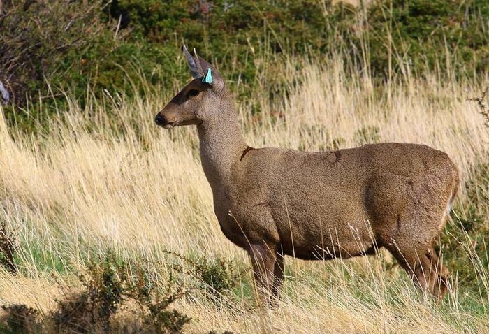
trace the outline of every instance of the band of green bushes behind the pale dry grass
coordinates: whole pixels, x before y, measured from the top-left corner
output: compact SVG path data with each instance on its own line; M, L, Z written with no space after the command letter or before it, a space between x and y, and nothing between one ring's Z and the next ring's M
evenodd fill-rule
M283 91L284 78L270 68L290 55L321 59L338 50L348 55L344 64L368 66L379 80L409 71L474 75L489 68L488 17L483 0L381 0L367 8L318 0L6 1L0 81L13 106L33 101L43 107L31 112L48 110L6 109L10 124L33 130L52 110L67 109L62 92L83 106L87 89L131 97L145 93L145 82L188 80L183 43L217 64L240 97L257 86L270 96Z

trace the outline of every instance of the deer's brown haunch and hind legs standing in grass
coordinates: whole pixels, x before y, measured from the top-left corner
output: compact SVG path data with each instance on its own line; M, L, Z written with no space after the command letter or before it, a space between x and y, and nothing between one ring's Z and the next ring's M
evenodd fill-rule
M432 245L445 224L451 196L439 182L439 177L431 182L391 177L383 188L372 187L367 197L379 245L393 254L416 285L437 299L444 297L447 279Z

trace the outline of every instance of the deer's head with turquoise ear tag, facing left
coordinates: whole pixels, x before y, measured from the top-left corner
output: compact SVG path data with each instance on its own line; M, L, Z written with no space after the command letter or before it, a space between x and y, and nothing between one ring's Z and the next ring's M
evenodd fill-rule
M163 110L156 114L154 122L165 129L173 126L199 125L218 113L219 101L224 94L224 80L207 61L193 56L184 46L191 80Z

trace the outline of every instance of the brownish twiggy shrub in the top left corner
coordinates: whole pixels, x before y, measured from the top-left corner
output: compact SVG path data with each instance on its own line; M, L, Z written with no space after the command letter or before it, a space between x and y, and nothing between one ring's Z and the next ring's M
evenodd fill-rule
M0 11L0 80L17 106L38 90L46 94L44 80L66 74L73 66L68 55L94 43L104 28L98 11L87 1L6 1Z

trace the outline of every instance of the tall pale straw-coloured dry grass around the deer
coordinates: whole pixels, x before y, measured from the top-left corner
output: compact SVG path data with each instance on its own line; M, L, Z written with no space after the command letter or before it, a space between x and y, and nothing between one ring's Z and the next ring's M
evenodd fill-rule
M249 144L326 150L377 140L424 143L448 152L462 182L487 160L489 131L476 104L467 101L479 95L481 86L411 78L381 91L368 78L341 68L333 60L323 66L304 63L300 71L292 64L277 70L275 75L302 83L291 84L289 96L270 101L257 91L239 103ZM153 124L156 111L173 93L132 102L120 97L91 101L85 110L73 102L66 119L54 119L48 133L39 136L15 133L0 119L0 221L17 231L15 261L21 273L14 277L0 271L0 303L48 310L59 296L53 273L70 282L109 248L128 259L145 257L152 279L161 286L174 270L166 265L166 250L248 266L245 252L226 240L214 217L195 129L167 132ZM251 104L261 114L251 115ZM464 191L458 201L466 201ZM460 242L470 253L470 240ZM435 305L417 293L400 268L386 270L392 266L386 254L327 263L288 260L279 307L254 307L248 277L223 305L199 291L178 301L177 309L193 318L186 330L489 331L484 288L481 296L462 296L464 282L458 282L447 300ZM481 269L480 284L488 286L487 268L477 261L472 263ZM478 312L463 305L467 298Z

